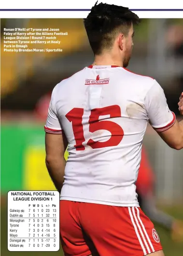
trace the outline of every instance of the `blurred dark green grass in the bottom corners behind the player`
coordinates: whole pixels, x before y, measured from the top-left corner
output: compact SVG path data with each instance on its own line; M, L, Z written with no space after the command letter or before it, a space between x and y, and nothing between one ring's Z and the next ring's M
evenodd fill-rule
M175 218L183 220L183 208L180 207L172 207L165 208L165 210L172 214ZM1 205L1 248L0 252L2 256L63 256L63 252L60 246L60 250L58 252L9 252L7 249L7 206L6 204ZM183 244L175 244L170 239L169 231L164 230L162 227L155 226L161 244L163 246L163 250L165 256L183 256Z

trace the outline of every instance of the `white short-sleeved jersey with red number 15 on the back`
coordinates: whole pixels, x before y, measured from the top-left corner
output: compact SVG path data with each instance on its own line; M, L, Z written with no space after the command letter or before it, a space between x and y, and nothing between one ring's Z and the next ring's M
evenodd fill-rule
M45 131L65 133L61 200L139 206L135 182L148 121L175 123L156 80L119 66L88 66L53 90Z

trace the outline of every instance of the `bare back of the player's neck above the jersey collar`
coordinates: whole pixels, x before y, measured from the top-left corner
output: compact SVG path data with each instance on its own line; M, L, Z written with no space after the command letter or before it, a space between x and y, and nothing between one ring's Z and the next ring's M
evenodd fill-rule
M115 66L122 66L123 67L123 61L121 59L116 59L111 57L110 55L96 55L95 60L92 64L98 65L98 66L108 66L108 65L115 65Z

